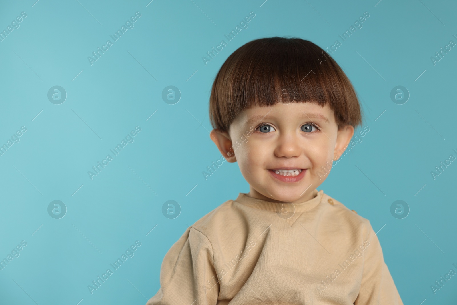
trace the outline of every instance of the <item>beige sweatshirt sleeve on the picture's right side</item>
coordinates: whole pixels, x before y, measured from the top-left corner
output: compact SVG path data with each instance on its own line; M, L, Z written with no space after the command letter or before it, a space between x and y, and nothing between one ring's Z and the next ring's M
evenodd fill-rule
M366 248L362 252L364 262L360 290L354 305L403 305L384 262L381 244L369 221L368 230L367 240L364 240Z

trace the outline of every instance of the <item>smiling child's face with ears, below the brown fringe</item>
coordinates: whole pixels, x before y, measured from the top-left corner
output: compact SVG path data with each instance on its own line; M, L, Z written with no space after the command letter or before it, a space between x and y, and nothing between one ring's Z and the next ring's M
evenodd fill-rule
M338 130L327 105L292 102L245 110L228 133L214 129L211 139L227 161L238 161L251 197L303 202L327 178L353 134L350 125ZM283 176L278 169L298 171Z

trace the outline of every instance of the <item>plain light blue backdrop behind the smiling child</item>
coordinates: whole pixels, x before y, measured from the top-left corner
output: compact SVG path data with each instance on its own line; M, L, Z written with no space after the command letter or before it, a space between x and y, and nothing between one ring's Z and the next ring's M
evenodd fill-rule
M208 134L208 100L224 60L261 37L330 47L365 11L363 27L332 56L370 131L318 189L382 229L404 304L455 304L456 276L435 295L430 289L457 264L457 165L430 174L457 156L457 50L430 60L457 43L455 2L78 1L1 1L1 30L27 13L0 42L0 144L27 128L0 156L0 258L27 242L0 271L1 304L145 304L186 228L249 191L236 163L202 175L221 156ZM90 65L87 57L137 11L134 27ZM205 66L202 56L251 11L249 27ZM403 105L390 99L399 85L410 93ZM52 86L65 89L64 103L48 101ZM181 91L175 105L161 98L166 86ZM90 180L87 171L135 126L134 142ZM410 207L404 219L390 213L399 199ZM61 219L47 212L53 200L67 206ZM179 217L164 217L167 200L181 205ZM134 256L90 294L87 286L137 240Z

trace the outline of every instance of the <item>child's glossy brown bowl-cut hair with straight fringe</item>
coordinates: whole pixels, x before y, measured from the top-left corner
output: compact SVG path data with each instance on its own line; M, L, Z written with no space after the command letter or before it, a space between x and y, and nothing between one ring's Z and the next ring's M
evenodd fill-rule
M327 104L338 129L362 123L356 92L334 59L308 40L269 37L244 44L223 63L209 98L211 125L228 132L245 109L292 101Z

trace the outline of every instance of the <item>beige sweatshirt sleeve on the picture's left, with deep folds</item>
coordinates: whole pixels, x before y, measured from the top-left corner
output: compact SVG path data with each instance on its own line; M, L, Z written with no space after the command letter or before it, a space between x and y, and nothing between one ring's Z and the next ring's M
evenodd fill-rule
M213 246L193 227L187 228L165 254L160 288L146 305L215 305L219 295Z

